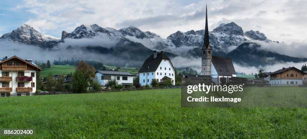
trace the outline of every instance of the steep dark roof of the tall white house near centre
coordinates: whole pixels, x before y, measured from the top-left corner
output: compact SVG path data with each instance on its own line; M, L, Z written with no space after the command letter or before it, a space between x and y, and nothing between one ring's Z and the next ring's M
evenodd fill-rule
M171 62L172 67L175 70L175 67L171 61L171 59L166 56L163 52L158 53L157 57L154 58L154 54L151 54L142 64L141 68L138 70L139 73L141 72L153 72L156 71L162 61L162 59L168 59ZM175 71L176 72L176 71Z

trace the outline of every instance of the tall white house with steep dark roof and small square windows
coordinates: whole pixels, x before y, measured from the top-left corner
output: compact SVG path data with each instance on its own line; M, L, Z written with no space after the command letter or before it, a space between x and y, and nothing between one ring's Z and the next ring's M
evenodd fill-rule
M166 79L171 79L172 84L175 85L175 67L171 59L164 54L163 51L158 53L154 51L142 64L138 70L139 84L144 86L150 85L153 79L158 82L163 82Z

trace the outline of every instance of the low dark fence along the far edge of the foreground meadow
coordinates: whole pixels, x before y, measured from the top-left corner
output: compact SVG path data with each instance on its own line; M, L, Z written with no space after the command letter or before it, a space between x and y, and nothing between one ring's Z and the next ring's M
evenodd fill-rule
M89 90L86 93L96 93L96 92L114 92L114 91L131 91L131 90L152 90L152 89L169 89L169 88L181 88L181 86L172 86L172 87L148 87L148 88L122 88L122 89L102 89ZM30 93L0 93L0 97L8 96L28 96L28 95L51 95L51 94L74 94L74 92L30 92Z

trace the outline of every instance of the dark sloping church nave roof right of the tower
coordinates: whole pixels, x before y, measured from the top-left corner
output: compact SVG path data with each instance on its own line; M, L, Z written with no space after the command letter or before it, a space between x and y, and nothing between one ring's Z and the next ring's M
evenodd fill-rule
M212 56L212 63L218 73L218 75L228 75L236 74L236 71L233 67L232 60L230 58L222 56Z

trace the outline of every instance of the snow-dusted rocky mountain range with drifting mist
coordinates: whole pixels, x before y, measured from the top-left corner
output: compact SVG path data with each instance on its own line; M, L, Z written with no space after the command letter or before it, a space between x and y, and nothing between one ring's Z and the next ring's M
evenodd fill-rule
M200 57L204 41L205 30L189 30L186 32L177 31L167 38L162 38L156 33L142 31L137 27L125 27L119 30L97 24L80 25L72 32L62 31L61 38L41 34L28 24L21 25L10 33L0 37L0 40L7 40L16 43L36 45L46 50L56 50L68 39L95 39L108 38L116 40L111 46L106 44L84 44L76 47L69 44L66 49L82 49L87 52L98 54L110 54L112 56L126 59L127 62L142 62L153 50L166 51L170 57ZM242 27L234 22L222 23L213 31L209 32L210 44L213 47L213 54L231 57L235 63L246 66L264 66L278 62L300 62L307 61L307 58L291 57L266 49L261 49L262 43L282 43L268 39L260 31L243 31Z

